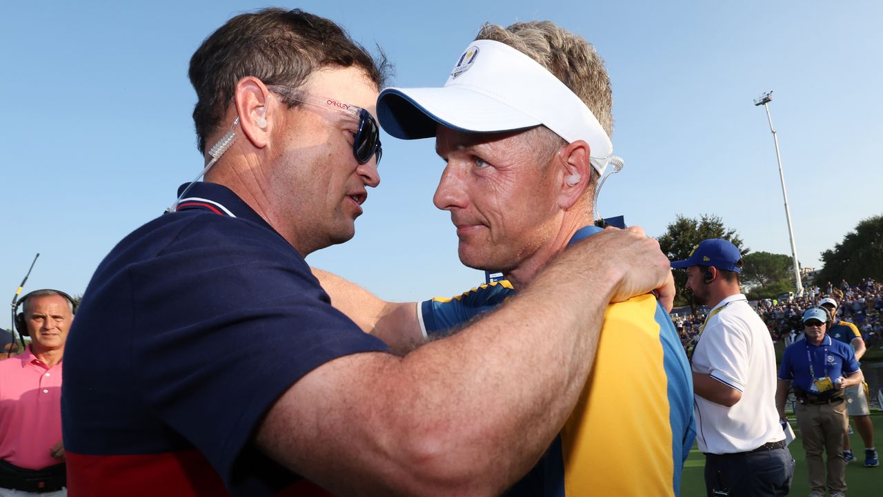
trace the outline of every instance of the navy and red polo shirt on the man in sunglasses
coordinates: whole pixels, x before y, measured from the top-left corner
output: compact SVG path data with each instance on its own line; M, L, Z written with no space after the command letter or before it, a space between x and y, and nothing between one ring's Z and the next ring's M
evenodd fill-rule
M261 418L321 364L386 350L254 210L198 183L113 248L83 296L64 354L69 489L313 494L250 443Z

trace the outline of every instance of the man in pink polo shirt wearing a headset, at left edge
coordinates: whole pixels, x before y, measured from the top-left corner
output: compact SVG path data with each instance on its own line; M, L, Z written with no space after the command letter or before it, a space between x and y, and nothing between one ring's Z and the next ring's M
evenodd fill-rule
M37 290L19 305L15 327L31 344L0 361L0 497L64 496L62 357L74 301Z

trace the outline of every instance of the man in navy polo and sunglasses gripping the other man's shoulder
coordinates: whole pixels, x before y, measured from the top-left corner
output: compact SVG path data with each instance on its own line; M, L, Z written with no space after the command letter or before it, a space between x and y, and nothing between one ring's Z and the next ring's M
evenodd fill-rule
M499 494L577 403L608 302L670 303L658 243L607 231L404 359L362 333L304 257L349 240L380 181L381 67L298 10L234 17L193 55L206 181L87 287L65 356L72 497Z

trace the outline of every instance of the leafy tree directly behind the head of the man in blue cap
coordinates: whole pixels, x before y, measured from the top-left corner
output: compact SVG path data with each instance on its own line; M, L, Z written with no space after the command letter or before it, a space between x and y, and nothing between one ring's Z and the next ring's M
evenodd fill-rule
M743 256L749 248L742 246L735 229L728 229L723 225L723 220L714 214L701 214L698 219L687 218L678 214L675 222L670 223L666 233L659 237L662 253L669 260L682 261L690 256L693 248L703 240L709 238L723 238L731 241ZM674 271L675 274L675 306L687 305L691 302L687 292L687 271Z

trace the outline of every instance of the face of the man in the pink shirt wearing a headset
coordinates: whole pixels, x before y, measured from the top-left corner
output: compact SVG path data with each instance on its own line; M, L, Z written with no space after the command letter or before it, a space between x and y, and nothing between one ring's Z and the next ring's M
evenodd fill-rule
M61 295L34 296L24 305L25 324L34 355L64 348L71 329L71 304Z

